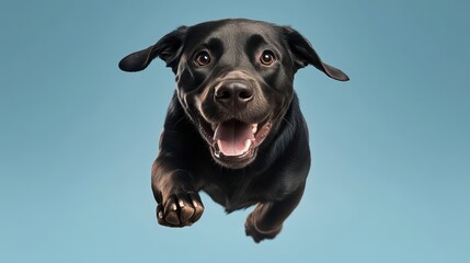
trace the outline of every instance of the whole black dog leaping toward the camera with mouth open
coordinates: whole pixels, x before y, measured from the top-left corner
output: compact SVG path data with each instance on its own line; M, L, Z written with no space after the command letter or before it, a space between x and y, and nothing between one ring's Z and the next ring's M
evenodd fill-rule
M152 168L159 224L191 226L204 210L198 191L227 211L256 205L247 235L272 239L299 203L310 168L307 125L294 75L312 65L346 81L287 26L221 20L181 26L123 58L139 71L160 57L176 76L160 153Z

